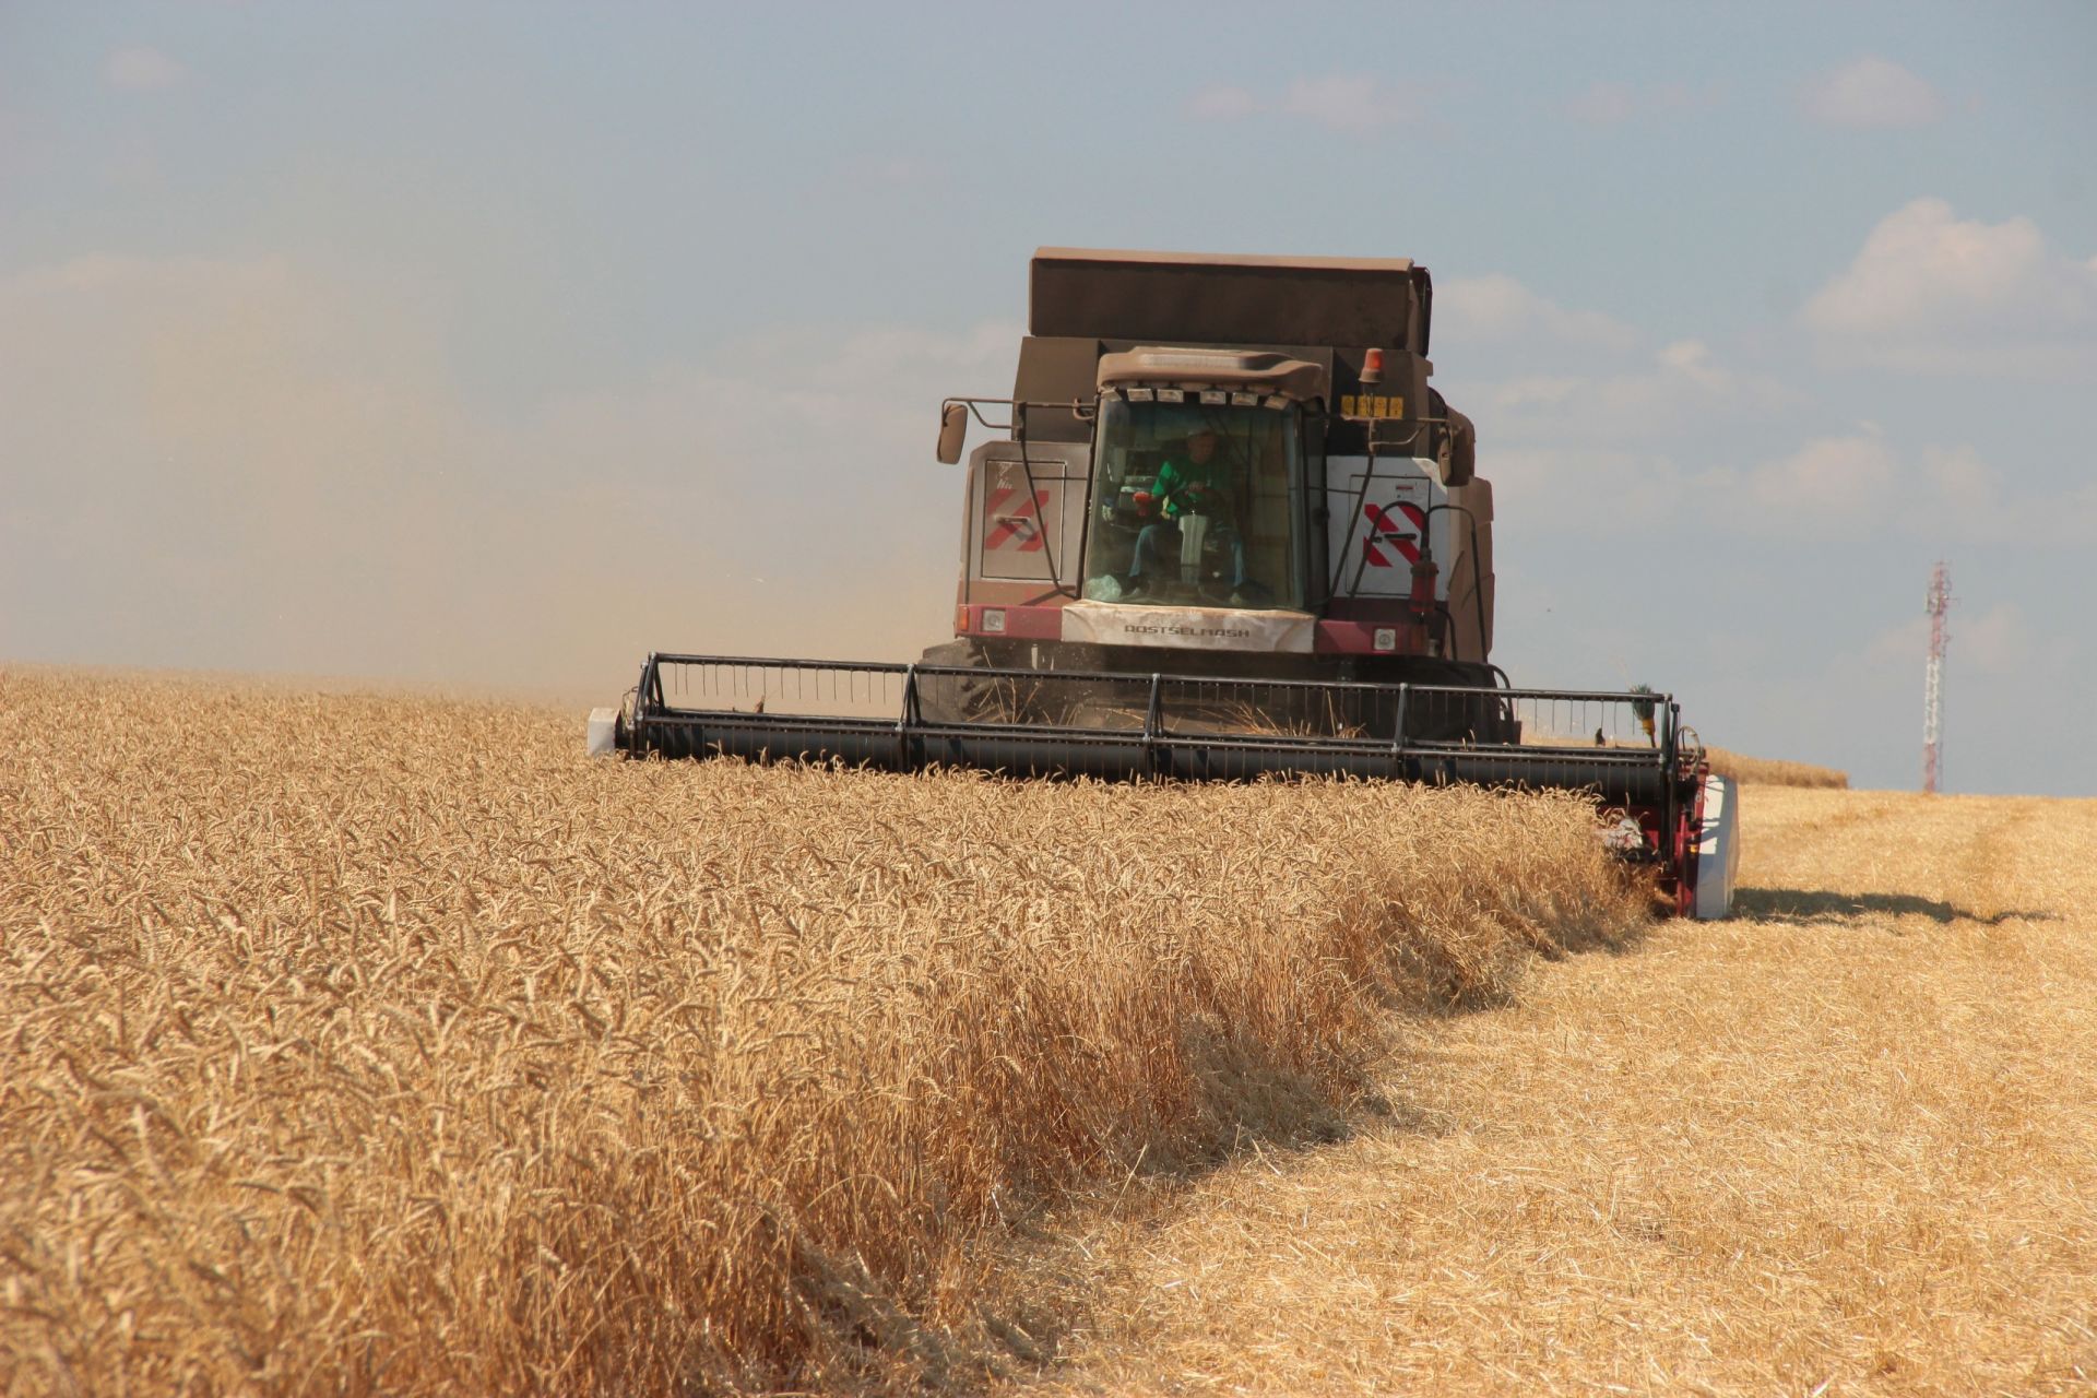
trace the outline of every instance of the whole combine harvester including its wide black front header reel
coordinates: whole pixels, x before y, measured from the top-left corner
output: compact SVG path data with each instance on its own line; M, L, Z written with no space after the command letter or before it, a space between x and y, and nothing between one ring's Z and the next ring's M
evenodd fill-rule
M916 664L652 654L591 752L1011 776L1348 773L1592 792L1726 916L1734 792L1665 694L1514 690L1493 488L1428 386L1409 260L1044 247L1011 398L971 419L954 639Z

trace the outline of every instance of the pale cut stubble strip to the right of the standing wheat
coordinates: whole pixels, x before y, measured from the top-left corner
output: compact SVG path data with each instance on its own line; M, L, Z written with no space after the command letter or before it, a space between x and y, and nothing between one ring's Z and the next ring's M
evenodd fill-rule
M1738 916L1069 1209L1074 1394L2097 1392L2097 801L1749 784Z

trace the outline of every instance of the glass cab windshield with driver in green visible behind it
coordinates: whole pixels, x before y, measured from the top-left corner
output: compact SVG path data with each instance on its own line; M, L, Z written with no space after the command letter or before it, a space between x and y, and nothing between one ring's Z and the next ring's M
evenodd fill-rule
M1155 606L1300 608L1300 440L1296 405L1103 396L1084 595Z

